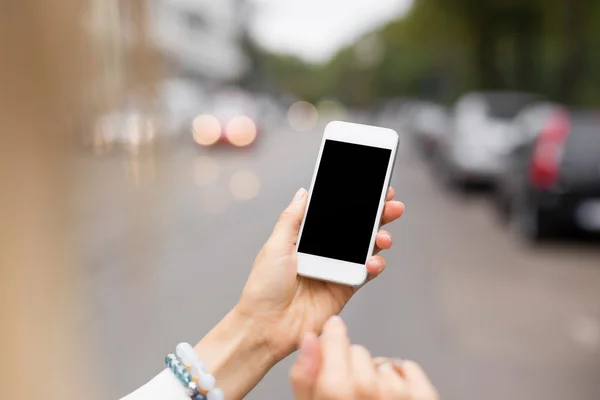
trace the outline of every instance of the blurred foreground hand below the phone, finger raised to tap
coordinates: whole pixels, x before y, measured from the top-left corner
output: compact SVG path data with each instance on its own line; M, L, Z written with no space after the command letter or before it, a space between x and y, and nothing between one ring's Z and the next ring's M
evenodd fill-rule
M321 338L305 334L290 378L296 400L437 400L423 370L411 361L373 360L351 345L340 317L325 324Z

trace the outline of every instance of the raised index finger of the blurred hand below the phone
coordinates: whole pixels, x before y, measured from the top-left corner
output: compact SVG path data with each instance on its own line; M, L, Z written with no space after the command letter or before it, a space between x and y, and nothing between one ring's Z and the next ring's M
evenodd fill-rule
M329 318L321 335L322 375L324 380L345 377L349 369L350 339L344 321L337 316Z

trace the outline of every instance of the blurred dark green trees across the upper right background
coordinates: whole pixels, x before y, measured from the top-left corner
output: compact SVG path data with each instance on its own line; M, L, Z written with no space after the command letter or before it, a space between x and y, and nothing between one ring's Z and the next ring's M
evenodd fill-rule
M408 14L368 36L383 50L374 62L357 57L361 39L324 65L263 54L261 76L308 101L336 97L351 106L394 97L448 103L481 89L600 105L594 0L415 0Z

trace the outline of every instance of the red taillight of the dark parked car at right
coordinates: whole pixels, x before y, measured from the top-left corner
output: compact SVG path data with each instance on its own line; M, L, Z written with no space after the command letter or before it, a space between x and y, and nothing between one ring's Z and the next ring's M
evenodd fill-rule
M547 189L556 183L563 147L570 129L569 116L564 112L557 112L549 118L537 138L530 169L531 182L536 188Z

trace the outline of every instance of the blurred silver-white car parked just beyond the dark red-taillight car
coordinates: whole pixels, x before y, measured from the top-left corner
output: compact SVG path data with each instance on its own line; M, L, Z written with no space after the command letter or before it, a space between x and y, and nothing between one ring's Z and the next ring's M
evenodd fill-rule
M512 120L537 101L537 95L520 92L471 93L459 99L436 160L444 182L452 187L495 184L510 151Z

